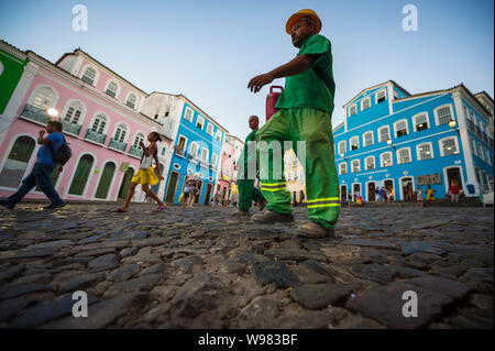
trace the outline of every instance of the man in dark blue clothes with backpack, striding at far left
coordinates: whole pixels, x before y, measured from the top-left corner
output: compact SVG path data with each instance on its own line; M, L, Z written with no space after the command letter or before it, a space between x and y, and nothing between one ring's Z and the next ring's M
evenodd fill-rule
M52 179L50 178L53 169L55 168L53 154L55 154L65 142L64 135L62 134L62 123L57 121L50 121L46 124L46 131L48 132L46 138L44 138L44 130L41 130L38 133L37 143L42 146L37 151L36 163L34 164L33 171L24 180L22 180L22 186L19 190L7 200L1 201L0 205L3 205L9 209L14 208L15 205L37 185L52 201L52 204L45 207L45 209L55 209L65 206L64 201L53 187ZM62 171L63 166L58 165L58 172Z

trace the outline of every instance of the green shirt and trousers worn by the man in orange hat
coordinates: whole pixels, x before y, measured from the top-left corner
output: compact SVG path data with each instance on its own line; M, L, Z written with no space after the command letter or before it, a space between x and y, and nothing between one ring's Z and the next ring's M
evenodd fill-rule
M305 168L308 218L330 229L334 228L340 211L331 124L336 85L330 41L312 35L297 55L318 55L318 58L308 70L286 78L276 105L278 111L256 133L261 189L270 210L292 213L290 194L283 173L274 174L273 154L283 155L287 150L277 149L284 147L285 141L293 142ZM298 141L304 142L306 160L301 160L301 151L297 150ZM283 157L275 162L282 162L284 169Z

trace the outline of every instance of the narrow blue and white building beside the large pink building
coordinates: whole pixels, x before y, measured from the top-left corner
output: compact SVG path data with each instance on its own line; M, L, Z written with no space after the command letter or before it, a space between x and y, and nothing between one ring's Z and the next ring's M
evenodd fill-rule
M199 204L209 204L220 169L221 149L228 131L184 96L178 96L178 122L166 178L164 201L178 204L186 180L199 180Z

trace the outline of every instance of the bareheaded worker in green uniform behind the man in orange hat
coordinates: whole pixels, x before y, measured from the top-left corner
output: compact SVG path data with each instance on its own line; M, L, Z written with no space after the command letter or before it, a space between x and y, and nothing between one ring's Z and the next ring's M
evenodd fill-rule
M249 152L249 142L254 142L254 136L256 135L256 131L260 127L260 119L257 118L257 116L251 116L249 123L252 132L246 136L244 141L244 149L242 150L242 155L238 161L238 164L240 164L238 173L239 210L237 210L234 215L250 215L250 208L253 204L253 200L258 205L260 210L263 210L266 204L261 191L254 187L254 178L250 179L248 172L249 166L256 166L255 149L253 147L254 153L251 154Z

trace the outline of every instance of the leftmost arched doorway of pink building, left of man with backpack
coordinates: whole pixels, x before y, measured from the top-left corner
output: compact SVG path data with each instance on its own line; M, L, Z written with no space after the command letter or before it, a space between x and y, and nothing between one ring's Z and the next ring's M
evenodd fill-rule
M15 140L0 173L0 186L16 188L21 185L35 145L31 136L19 136Z

